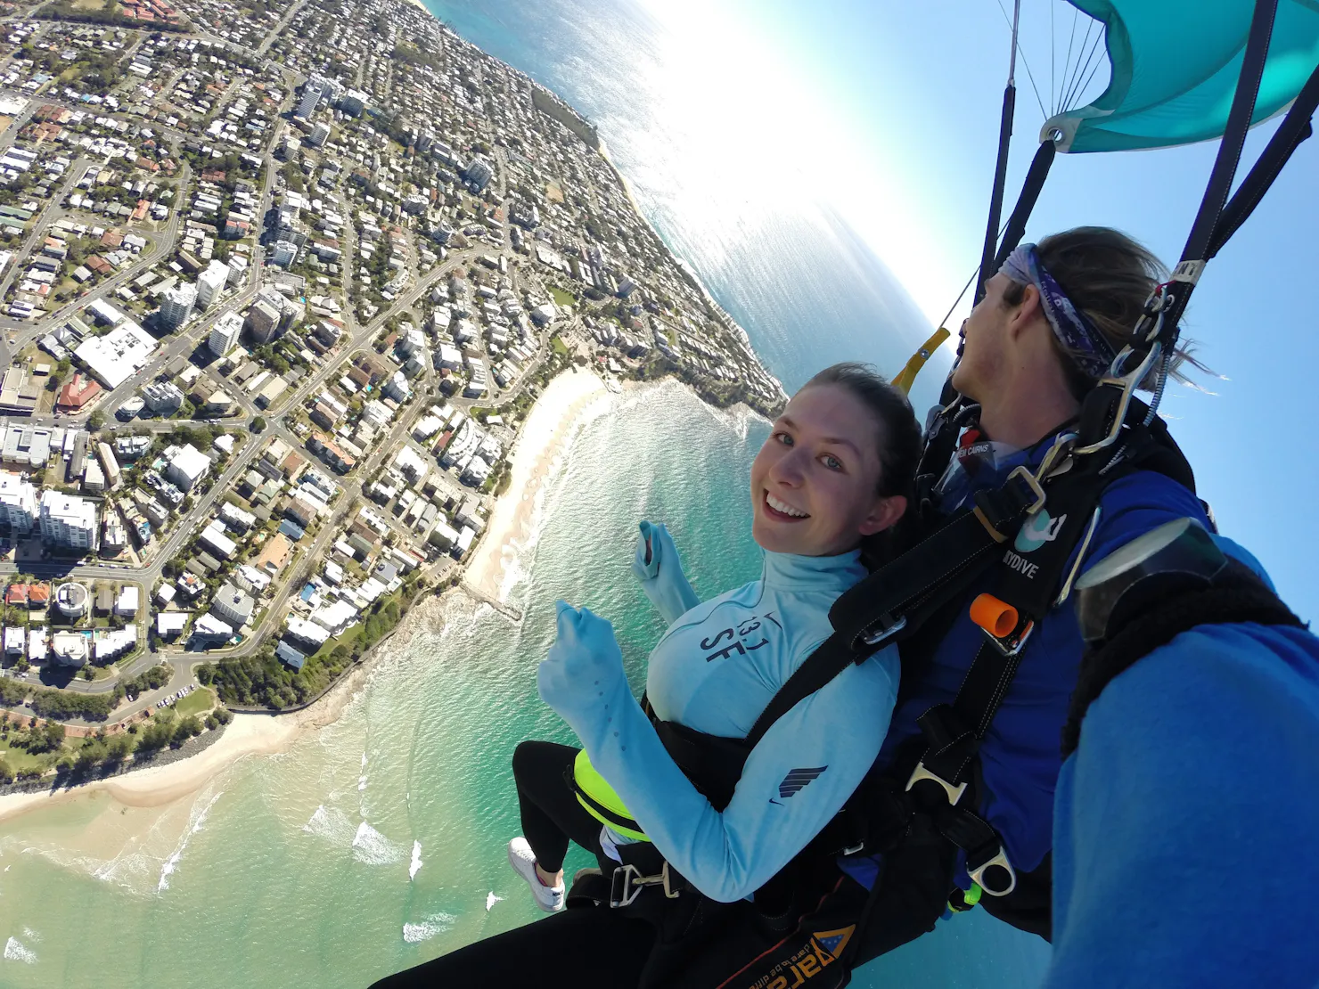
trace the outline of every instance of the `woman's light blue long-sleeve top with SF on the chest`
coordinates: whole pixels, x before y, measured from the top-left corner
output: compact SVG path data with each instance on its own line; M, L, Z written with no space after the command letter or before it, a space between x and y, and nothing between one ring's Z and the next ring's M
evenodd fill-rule
M766 553L758 580L702 604L667 533L650 531L656 551L649 564L638 554L637 572L670 622L650 654L650 704L662 720L743 738L828 638L830 605L865 567L857 553ZM761 738L723 812L670 758L621 676L565 684L545 699L576 729L591 764L661 854L702 893L732 902L783 868L856 790L878 754L897 688L893 647L844 670Z

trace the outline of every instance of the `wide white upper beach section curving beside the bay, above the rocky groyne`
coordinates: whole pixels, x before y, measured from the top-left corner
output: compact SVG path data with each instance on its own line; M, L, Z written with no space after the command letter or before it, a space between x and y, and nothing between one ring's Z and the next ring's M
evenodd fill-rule
M536 400L509 455L508 491L491 513L464 583L477 595L501 601L508 564L532 534L537 494L557 458L572 436L582 414L609 392L591 371L568 371L555 377Z

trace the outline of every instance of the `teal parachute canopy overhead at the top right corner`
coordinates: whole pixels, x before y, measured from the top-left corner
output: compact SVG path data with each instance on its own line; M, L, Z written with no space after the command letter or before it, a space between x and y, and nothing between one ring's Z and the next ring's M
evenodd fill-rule
M1105 26L1111 75L1093 103L1045 121L1078 153L1167 148L1223 135L1253 0L1068 0ZM1252 124L1286 109L1319 65L1319 0L1279 0Z

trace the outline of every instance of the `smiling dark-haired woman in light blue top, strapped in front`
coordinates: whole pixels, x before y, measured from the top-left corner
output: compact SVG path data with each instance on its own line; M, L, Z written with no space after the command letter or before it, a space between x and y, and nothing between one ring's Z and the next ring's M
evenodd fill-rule
M758 580L700 603L665 526L642 522L633 570L669 622L646 676L658 721L724 741L747 737L831 634L832 603L865 576L861 542L902 517L919 448L906 397L865 365L838 364L793 396L752 464L752 534L765 551ZM509 844L509 860L543 910L562 910L570 840L603 865L621 861L620 847L649 841L706 897L751 897L838 814L884 741L898 688L892 646L774 721L745 757L731 799L719 800L727 806L716 807L633 699L609 622L563 601L557 611L539 694L576 732L590 765L553 742L522 742L513 756L525 837ZM604 787L612 807L579 799L583 774L612 785ZM588 945L591 963L539 967L537 985L636 985L654 940L654 927L625 911L568 910L379 985L512 984L526 976L529 957L565 956L575 944Z

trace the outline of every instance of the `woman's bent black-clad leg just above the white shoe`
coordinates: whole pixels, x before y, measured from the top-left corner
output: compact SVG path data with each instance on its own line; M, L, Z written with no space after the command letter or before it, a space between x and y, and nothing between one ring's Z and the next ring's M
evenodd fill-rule
M522 836L549 873L563 868L568 841L600 854L600 822L586 812L568 789L566 773L579 749L557 742L526 741L513 750L513 782L522 812Z

